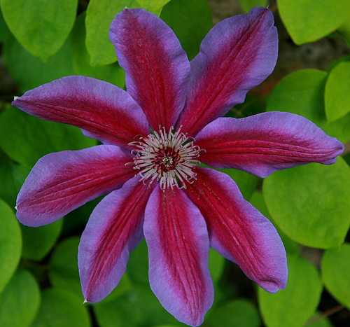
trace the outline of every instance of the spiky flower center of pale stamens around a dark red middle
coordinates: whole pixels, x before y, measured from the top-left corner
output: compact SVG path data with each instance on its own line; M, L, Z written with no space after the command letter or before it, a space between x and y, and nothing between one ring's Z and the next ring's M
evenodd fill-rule
M186 182L193 183L197 175L193 169L200 164L197 160L200 148L181 132L181 127L176 132L174 127L169 132L160 127L159 133L154 132L140 140L129 145L134 146L134 169L139 169L136 176L141 176L143 183L148 181L151 185L153 181L159 181L162 190L186 188Z

